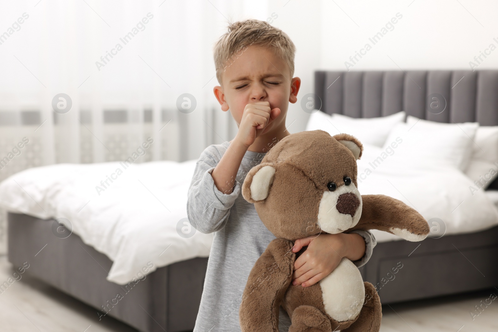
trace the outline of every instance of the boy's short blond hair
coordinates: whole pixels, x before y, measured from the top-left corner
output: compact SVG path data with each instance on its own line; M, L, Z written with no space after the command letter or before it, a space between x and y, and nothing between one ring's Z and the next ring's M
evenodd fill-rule
M290 77L294 75L296 47L289 36L268 22L248 19L229 23L228 31L214 46L216 78L222 84L222 73L242 55L249 45L267 47L289 65ZM290 78L289 78L290 79Z

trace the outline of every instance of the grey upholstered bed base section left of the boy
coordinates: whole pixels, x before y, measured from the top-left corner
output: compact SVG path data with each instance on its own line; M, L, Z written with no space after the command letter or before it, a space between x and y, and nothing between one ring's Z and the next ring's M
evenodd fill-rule
M96 317L109 312L141 332L193 330L207 258L160 267L136 284L121 286L106 280L113 263L106 255L74 233L55 236L54 220L12 213L7 219L8 260L14 268L28 262L24 273L96 308ZM123 298L115 300L118 293Z

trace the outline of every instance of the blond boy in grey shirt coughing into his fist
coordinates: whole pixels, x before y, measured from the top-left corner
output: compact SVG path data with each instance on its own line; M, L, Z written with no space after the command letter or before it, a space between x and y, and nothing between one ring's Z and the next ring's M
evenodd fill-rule
M220 83L214 94L221 109L230 110L239 131L232 141L210 145L201 153L188 191L189 221L203 233L214 232L194 332L240 331L239 306L249 272L275 238L254 205L244 200L241 186L265 153L290 134L285 117L301 84L298 77L292 78L294 44L267 22L231 24L214 53ZM374 245L368 231L298 239L293 252L308 247L295 262L293 283L315 284L343 257L362 266ZM290 320L282 308L279 320L279 330L287 331Z

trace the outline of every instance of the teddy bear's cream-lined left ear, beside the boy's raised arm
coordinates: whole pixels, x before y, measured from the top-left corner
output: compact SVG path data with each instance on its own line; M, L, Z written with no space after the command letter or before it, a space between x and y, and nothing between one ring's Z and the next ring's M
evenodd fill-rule
M272 163L261 163L252 167L242 185L242 196L249 203L266 199L274 176L275 167Z

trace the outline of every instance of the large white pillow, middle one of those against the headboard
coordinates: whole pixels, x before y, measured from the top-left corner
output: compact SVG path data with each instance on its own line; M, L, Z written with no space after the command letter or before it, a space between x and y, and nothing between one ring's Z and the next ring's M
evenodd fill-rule
M397 142L396 160L419 168L452 167L465 171L472 155L477 122L440 123L408 116L394 126L384 147Z

